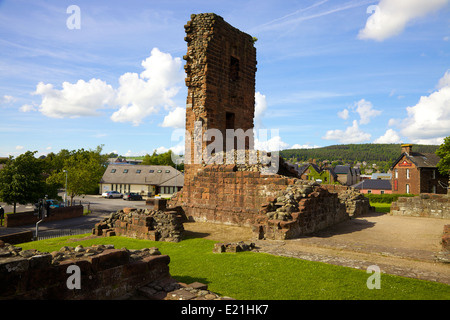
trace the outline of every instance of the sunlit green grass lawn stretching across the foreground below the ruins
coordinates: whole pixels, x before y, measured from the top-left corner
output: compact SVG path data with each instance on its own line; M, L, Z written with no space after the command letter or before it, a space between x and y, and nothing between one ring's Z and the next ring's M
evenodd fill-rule
M208 289L239 300L300 299L450 299L450 286L381 274L381 289L368 289L370 274L363 270L277 257L264 253L213 253L214 241L186 239L179 243L154 242L125 237L94 238L82 241L70 236L17 246L42 252L79 244L114 244L115 248L157 247L170 256L170 273L178 281L208 284Z

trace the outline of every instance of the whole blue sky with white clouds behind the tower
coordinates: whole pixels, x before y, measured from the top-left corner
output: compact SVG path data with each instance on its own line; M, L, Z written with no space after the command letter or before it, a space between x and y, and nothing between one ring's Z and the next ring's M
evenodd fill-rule
M202 12L258 38L265 146L450 135L449 0L0 0L0 156L179 151L183 26Z

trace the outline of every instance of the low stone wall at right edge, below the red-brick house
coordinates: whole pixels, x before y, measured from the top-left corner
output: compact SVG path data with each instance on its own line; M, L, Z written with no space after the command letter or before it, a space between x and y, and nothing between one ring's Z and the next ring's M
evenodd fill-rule
M450 219L450 196L421 194L400 197L391 205L391 215Z

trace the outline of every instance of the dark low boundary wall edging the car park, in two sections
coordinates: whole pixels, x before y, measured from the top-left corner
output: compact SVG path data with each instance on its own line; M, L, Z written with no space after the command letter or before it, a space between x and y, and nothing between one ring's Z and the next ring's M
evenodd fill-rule
M83 216L82 205L64 208L51 208L50 216L46 217L45 221L58 221L81 216ZM35 224L38 221L39 218L34 211L17 212L14 214L5 215L5 226L9 228Z

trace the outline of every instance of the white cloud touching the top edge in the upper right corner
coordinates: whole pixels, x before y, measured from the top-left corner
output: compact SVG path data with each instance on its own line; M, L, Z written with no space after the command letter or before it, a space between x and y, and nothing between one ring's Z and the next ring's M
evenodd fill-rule
M383 41L400 34L412 20L436 11L449 0L381 0L360 30L359 39ZM372 7L372 6L371 6Z

